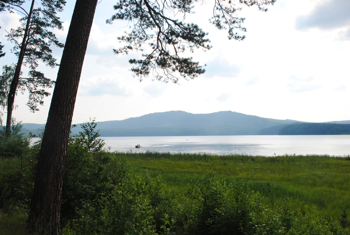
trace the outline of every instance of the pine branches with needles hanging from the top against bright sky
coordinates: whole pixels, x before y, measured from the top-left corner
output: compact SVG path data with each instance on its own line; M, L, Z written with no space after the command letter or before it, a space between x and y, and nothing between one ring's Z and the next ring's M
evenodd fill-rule
M228 38L243 40L244 35L238 31L246 31L242 26L245 18L237 16L242 9L236 2L245 6L257 6L259 10L266 11L266 5L273 4L275 0L215 0L213 15L209 21L218 29L228 30ZM151 51L142 54L142 59L130 59L131 69L140 80L148 77L150 73L155 79L173 81L177 83L179 76L193 79L205 72L204 65L193 61L192 57L183 57L188 49L194 52L196 48L209 50L210 40L197 24L186 23L186 14L194 13L195 4L204 3L200 0L165 0L165 1L129 1L119 0L114 9L117 11L107 23L114 20L129 21L130 31L118 37L124 46L114 49L116 54L127 54L131 50L144 51L144 44L148 44ZM177 17L180 19L177 19Z

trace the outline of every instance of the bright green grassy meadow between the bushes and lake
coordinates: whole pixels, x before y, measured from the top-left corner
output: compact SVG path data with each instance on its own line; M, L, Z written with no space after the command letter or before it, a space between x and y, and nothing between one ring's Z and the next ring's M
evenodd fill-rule
M315 207L320 215L339 219L350 208L350 157L330 156L212 156L158 152L124 153L134 172L162 175L169 186L181 188L205 172L229 181L248 177L251 188L269 204L293 198L293 209ZM248 164L248 160L251 163ZM249 177L252 170L258 174ZM348 216L349 217L349 216ZM348 218L349 220L349 218Z

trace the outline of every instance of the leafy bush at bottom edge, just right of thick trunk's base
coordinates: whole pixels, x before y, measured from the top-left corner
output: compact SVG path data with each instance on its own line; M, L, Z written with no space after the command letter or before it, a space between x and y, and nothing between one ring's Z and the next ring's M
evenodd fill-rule
M78 218L71 220L62 234L155 235L150 199L141 176L119 183L112 193L84 201Z

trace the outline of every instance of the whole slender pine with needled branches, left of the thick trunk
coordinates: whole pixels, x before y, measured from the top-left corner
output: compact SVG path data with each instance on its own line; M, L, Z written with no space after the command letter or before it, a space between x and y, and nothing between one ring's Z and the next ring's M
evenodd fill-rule
M59 43L55 34L48 29L62 29L62 22L59 21L56 13L62 11L65 1L41 0L38 4L35 0L31 0L29 10L22 7L24 1L4 2L6 2L5 7L10 11L17 10L23 14L20 19L21 26L11 29L6 35L9 41L14 43L13 51L18 57L7 98L6 136L9 137L13 105L19 84L24 85L22 87L29 91L27 105L32 112L37 111L37 106L43 104L42 99L50 94L44 88L54 85L54 81L46 78L42 72L36 70L36 67L39 60L50 67L58 65L51 55L50 45L54 44L62 48L63 44ZM35 5L39 6L34 8ZM30 69L28 78L20 78L22 65Z

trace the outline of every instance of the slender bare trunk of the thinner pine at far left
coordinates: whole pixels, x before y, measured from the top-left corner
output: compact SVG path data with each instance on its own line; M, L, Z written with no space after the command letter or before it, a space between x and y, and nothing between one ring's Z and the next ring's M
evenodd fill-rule
M32 0L31 1L30 10L29 10L29 14L28 14L26 29L24 31L23 40L22 40L22 44L21 44L21 51L20 51L20 54L18 56L18 62L17 62L17 65L16 65L15 74L14 74L13 79L11 81L10 90L8 92L8 97L7 97L7 119L6 119L6 131L5 131L5 136L6 137L10 137L10 135L11 135L11 120L12 120L13 104L15 102L17 86L18 86L18 82L20 80L21 67L22 67L22 63L23 63L23 59L24 59L24 52L26 51L26 48L27 48L27 39L28 39L28 34L29 34L29 25L30 25L31 14L33 13L34 3L35 3L35 0Z

